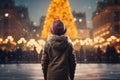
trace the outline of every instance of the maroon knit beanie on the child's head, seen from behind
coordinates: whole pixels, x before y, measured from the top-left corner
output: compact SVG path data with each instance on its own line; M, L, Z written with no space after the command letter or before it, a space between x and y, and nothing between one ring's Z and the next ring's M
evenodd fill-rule
M61 20L54 20L52 27L51 27L51 33L54 35L64 35L66 32L66 27L64 23Z

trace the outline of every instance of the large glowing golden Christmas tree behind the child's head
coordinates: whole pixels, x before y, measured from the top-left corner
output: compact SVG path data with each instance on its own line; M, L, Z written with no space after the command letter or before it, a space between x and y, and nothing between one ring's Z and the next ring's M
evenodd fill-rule
M78 38L78 31L74 23L74 17L71 13L68 0L51 0L48 13L46 15L43 30L41 34L42 39L46 39L50 35L50 27L55 19L60 19L67 27L66 35L71 39Z

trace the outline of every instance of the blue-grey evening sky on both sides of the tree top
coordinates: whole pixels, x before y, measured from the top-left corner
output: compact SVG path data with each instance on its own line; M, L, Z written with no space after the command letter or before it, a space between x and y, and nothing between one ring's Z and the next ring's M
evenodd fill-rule
M39 24L41 16L46 15L51 0L15 0L16 5L25 5L29 9L30 19ZM71 10L76 12L85 12L87 17L87 26L92 27L91 15L96 10L98 1L103 0L69 0Z

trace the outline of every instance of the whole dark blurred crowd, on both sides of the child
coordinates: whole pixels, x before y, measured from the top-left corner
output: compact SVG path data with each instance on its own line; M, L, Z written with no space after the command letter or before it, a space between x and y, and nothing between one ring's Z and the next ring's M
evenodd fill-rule
M0 64L7 63L40 63L41 53L36 49L33 51L23 51L18 48L15 51L2 50L0 48ZM120 63L120 54L114 46L108 45L103 51L100 47L81 46L79 51L75 51L77 63Z

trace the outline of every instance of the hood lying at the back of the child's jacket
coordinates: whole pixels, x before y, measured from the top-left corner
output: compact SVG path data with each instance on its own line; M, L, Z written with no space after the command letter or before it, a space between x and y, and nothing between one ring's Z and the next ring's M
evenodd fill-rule
M47 41L55 50L59 51L64 51L68 45L68 38L64 35L51 35L48 37Z

